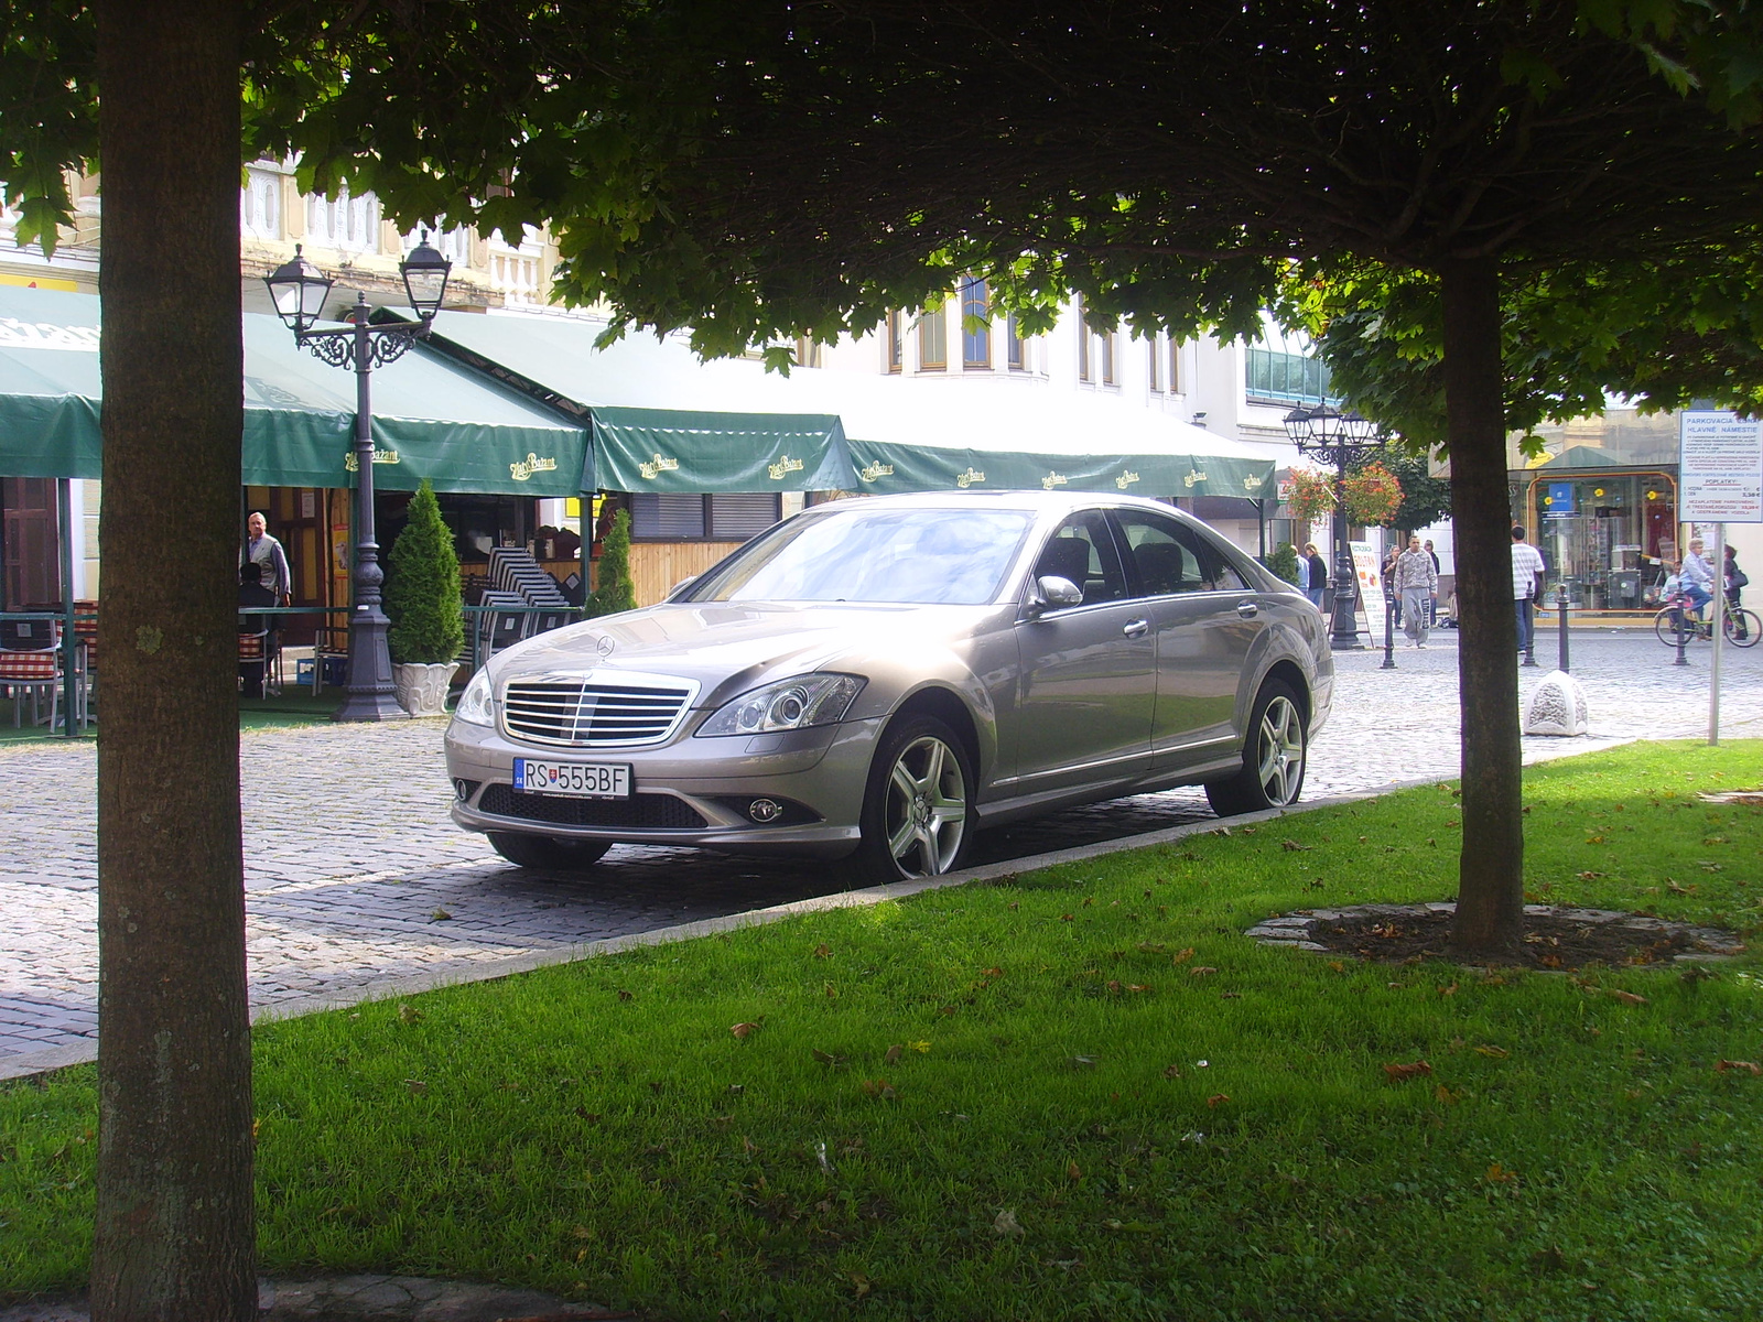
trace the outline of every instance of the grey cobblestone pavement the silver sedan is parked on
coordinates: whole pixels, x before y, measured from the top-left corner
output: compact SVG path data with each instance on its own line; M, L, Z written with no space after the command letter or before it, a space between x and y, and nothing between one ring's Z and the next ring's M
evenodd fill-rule
M1306 798L1451 776L1458 767L1456 635L1426 650L1340 654L1335 716L1312 749ZM1555 661L1520 668L1527 698ZM1576 631L1585 739L1527 739L1539 760L1633 737L1705 737L1710 649L1687 665L1640 631ZM1763 737L1763 649L1726 649L1722 737ZM441 723L250 732L245 888L250 996L294 1008L400 977L458 977L524 952L740 913L855 885L843 864L617 848L591 880L510 867L446 816ZM0 1077L97 1029L93 746L0 749ZM975 862L1028 857L1209 816L1174 790L986 832Z

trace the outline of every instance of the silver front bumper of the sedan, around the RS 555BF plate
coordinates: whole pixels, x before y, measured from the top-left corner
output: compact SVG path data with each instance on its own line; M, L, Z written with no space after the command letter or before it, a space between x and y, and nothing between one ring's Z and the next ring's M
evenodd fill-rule
M446 732L451 814L465 830L841 857L857 844L869 763L885 724L878 717L777 735L681 733L656 747L559 749L453 721ZM631 795L520 793L515 758L629 765ZM777 818L755 820L755 800L776 804Z

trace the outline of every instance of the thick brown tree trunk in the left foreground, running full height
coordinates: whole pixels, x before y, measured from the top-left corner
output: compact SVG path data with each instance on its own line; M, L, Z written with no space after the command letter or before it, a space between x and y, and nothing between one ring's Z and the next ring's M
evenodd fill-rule
M257 1308L234 696L243 12L99 7L97 1322Z

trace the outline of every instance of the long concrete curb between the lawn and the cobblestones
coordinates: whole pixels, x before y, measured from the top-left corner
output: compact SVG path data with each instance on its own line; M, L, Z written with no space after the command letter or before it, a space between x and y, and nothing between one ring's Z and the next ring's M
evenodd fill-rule
M1525 765L1536 761L1553 761L1555 758L1576 756L1581 753L1599 753L1608 747L1620 747L1622 744L1633 744L1634 739L1597 739L1596 744L1585 747L1578 746L1580 740L1588 739L1585 735L1574 740L1560 740L1558 746L1544 744L1541 747L1525 749ZM677 924L673 927L656 927L647 932L631 932L628 936L608 936L599 941L584 941L578 945L554 947L548 950L529 950L518 955L508 955L495 961L480 961L471 964L458 964L453 968L441 968L430 973L418 973L407 978L383 978L379 982L365 982L353 987L346 994L337 996L301 996L296 999L277 1001L275 1005L259 1005L250 1012L250 1021L254 1024L266 1024L277 1019L298 1019L300 1015L323 1014L324 1010L346 1010L351 1005L363 1005L367 1001L390 1001L400 996L420 996L421 992L439 991L441 987L460 987L472 982L492 982L495 978L508 978L517 973L531 973L532 969L554 968L557 964L573 964L582 959L596 959L598 955L614 955L621 950L638 950L642 947L672 945L673 941L691 941L700 936L716 936L718 932L733 932L742 927L758 927L763 924L783 922L786 918L797 918L804 913L829 913L832 910L852 910L867 908L871 904L883 904L894 899L906 899L908 895L919 895L926 890L943 890L948 887L963 887L970 881L993 881L1000 876L1014 876L1017 873L1033 873L1044 867L1060 867L1063 864L1081 864L1088 858L1100 858L1102 855L1120 853L1121 850L1146 850L1157 844L1171 844L1188 836L1204 836L1208 832L1218 830L1220 827L1236 825L1255 825L1257 821L1271 821L1275 818L1287 816L1291 813L1315 813L1324 807L1340 807L1343 804L1359 804L1366 798L1379 798L1386 793L1396 793L1400 790L1416 790L1426 784L1444 784L1446 781L1454 781L1456 776L1421 776L1412 781L1393 781L1389 784L1380 784L1375 790L1359 790L1345 795L1333 795L1329 798L1317 798L1315 802L1298 804L1296 807L1269 809L1266 813L1248 813L1245 816L1236 816L1229 820L1208 820L1208 821L1188 821L1181 827L1167 827L1164 830L1149 830L1139 836L1121 836L1112 841L1100 841L1097 844L1082 844L1074 850L1054 850L1051 853L1037 853L1026 858L1012 858L1001 864L986 864L984 867L966 867L959 873L945 873L943 876L922 878L919 881L901 881L897 885L887 887L869 887L864 890L843 890L834 895L816 895L815 899L799 899L788 904L772 904L763 910L748 910L746 913L730 913L721 918L700 918L698 922ZM53 1070L65 1070L74 1065L88 1065L97 1059L97 1042L90 1045L79 1043L72 1047L55 1047L51 1051L5 1056L0 1058L0 1081L7 1079L26 1079L39 1073L49 1073Z

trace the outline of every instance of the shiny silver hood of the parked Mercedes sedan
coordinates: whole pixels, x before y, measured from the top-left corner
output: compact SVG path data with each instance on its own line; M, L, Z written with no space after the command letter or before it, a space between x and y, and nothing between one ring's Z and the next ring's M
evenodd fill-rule
M531 638L501 657L497 680L538 672L631 670L700 684L716 705L755 684L815 670L869 666L973 633L994 606L705 601L584 620Z

